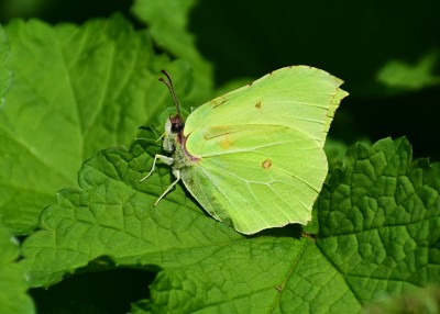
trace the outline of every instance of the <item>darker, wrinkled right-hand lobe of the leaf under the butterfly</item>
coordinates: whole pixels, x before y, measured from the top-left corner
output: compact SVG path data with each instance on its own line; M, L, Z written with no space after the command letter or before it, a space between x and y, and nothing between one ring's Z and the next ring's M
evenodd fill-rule
M362 304L440 281L440 165L405 138L355 145L319 199L323 257Z

